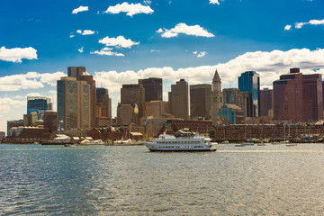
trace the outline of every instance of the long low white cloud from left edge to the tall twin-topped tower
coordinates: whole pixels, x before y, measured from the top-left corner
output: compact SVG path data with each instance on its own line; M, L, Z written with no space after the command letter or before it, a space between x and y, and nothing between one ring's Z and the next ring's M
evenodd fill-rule
M44 84L56 86L57 80L66 76L63 72L44 73L28 72L27 74L0 77L0 91L12 92L22 89L41 88Z

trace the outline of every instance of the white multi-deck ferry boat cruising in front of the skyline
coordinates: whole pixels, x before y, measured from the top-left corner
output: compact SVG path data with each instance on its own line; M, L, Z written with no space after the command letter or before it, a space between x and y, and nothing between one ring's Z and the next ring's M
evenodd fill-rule
M161 134L145 145L150 151L215 151L217 142L184 129L174 135Z

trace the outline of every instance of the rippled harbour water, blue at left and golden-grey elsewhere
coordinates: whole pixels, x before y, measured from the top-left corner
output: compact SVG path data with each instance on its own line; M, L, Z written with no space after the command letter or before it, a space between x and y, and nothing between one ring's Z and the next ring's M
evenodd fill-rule
M321 215L324 145L0 145L0 214Z

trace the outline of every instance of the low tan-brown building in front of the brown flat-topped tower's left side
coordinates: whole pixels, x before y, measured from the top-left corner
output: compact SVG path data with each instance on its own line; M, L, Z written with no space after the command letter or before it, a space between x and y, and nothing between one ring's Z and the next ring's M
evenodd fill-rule
M117 106L117 123L139 125L139 107L138 104L122 104Z

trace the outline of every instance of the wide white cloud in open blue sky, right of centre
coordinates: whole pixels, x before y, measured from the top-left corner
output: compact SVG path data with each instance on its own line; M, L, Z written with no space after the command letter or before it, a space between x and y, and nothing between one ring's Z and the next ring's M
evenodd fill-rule
M204 30L199 25L187 25L185 23L177 23L175 25L175 28L172 28L170 30L160 28L157 30L157 32L161 33L161 36L164 38L173 38L178 36L179 33L184 33L193 36L207 37L207 38L211 38L215 36L212 33Z

